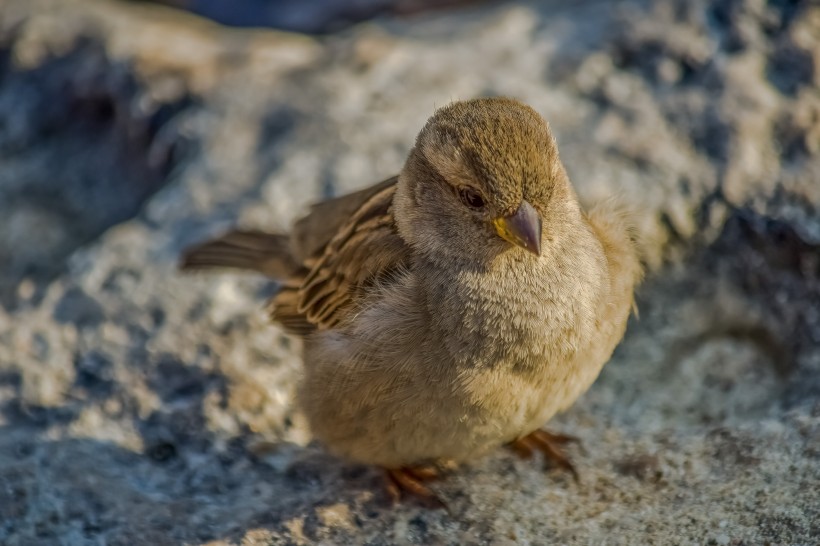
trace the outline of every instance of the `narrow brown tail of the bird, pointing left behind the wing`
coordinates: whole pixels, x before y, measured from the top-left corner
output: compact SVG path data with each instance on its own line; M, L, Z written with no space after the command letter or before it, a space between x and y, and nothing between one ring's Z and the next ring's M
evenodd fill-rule
M290 237L262 231L231 231L187 249L180 260L183 271L233 268L256 271L273 279L286 279L300 264L293 255Z

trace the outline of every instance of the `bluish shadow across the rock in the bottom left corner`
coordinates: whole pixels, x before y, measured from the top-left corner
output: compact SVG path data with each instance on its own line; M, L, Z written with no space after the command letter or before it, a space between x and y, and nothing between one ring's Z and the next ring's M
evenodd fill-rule
M179 544L238 541L260 526L284 531L334 494L323 473L302 474L242 455L157 459L109 441L0 429L0 541ZM316 523L301 521L310 535Z

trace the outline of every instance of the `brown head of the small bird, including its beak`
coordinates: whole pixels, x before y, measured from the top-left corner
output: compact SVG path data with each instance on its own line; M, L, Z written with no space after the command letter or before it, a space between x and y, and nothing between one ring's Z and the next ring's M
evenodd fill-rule
M546 121L506 98L436 111L399 177L395 209L400 232L418 250L468 259L539 256L578 213Z

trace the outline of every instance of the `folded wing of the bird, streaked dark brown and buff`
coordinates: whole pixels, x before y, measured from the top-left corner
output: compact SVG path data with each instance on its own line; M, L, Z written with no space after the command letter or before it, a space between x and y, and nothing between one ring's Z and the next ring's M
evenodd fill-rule
M393 219L396 179L314 206L294 228L305 268L271 302L271 315L288 329L332 328L355 309L363 290L406 265L410 248ZM335 221L341 214L342 222ZM322 221L324 217L324 222ZM327 224L336 229L326 244ZM318 233L314 233L315 226ZM313 248L311 248L313 247Z

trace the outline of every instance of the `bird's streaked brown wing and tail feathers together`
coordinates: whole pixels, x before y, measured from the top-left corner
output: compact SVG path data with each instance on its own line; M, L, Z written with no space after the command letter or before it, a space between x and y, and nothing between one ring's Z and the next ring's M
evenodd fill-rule
M268 309L292 333L331 328L409 249L393 221L397 177L314 205L289 235L232 231L185 252L184 270L232 267L282 281Z

